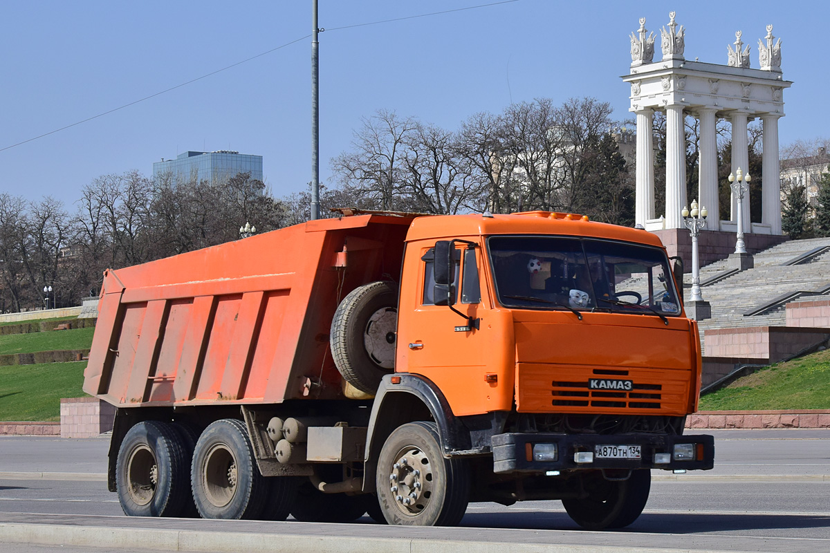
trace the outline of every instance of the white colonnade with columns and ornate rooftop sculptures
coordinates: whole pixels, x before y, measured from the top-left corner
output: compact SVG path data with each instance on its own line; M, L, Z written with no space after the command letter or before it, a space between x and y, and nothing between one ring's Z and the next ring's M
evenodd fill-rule
M792 83L781 74L781 41L774 44L772 26L759 41L760 69L749 67L749 46L741 32L735 46L729 46L728 65L686 61L683 57L685 31L677 28L670 13L668 29L663 27L662 61L654 62L654 33L648 35L645 18L632 33L631 74L623 80L631 85L631 111L637 115L636 224L647 230L684 228L681 209L686 198L686 117L700 121L698 149L698 196L709 210L708 230L736 230L737 205L733 198L729 221L721 221L718 205L718 159L716 124L730 122L732 129L731 167L749 170L747 125L750 119L763 122L763 214L762 222L751 223L749 194L742 204L744 232L781 234L779 185L778 120L784 116L782 92ZM648 35L648 36L647 36ZM654 206L654 113L666 114L666 212ZM657 215L657 217L656 217Z

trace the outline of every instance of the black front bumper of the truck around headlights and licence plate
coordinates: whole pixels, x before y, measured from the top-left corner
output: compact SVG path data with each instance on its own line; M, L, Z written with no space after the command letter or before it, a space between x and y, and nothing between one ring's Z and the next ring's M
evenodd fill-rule
M534 444L556 444L555 460L536 461ZM676 460L671 453L675 444L693 444L692 460ZM595 452L598 445L639 445L640 458L597 458L590 463L577 463L575 454ZM715 463L715 437L706 434L496 434L492 439L493 471L496 473L546 473L586 468L662 468L665 470L709 470ZM656 454L669 454L668 463L655 463ZM583 456L584 457L584 456ZM662 456L665 458L665 455Z

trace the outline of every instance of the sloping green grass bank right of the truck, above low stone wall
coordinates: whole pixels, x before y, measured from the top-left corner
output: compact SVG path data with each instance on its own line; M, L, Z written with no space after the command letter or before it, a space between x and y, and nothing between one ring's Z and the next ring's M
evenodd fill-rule
M739 378L701 397L699 409L830 409L830 350Z

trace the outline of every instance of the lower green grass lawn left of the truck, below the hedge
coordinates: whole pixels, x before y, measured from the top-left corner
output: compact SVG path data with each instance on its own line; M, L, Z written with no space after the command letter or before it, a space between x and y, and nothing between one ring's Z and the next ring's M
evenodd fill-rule
M61 398L86 395L85 366L86 361L0 366L0 420L61 420Z

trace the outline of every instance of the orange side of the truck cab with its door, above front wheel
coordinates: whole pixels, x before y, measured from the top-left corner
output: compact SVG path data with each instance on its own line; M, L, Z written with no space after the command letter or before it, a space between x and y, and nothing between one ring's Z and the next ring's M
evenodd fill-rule
M487 287L481 240L475 247L457 244L453 252L453 307L464 317L446 305L435 305L434 245L417 242L407 248L404 281L416 284L401 287L396 371L426 376L455 415L509 410L512 372L505 370L505 361L512 366L515 358L512 325L499 323L504 313L486 308L482 301ZM509 360L501 351L504 347L510 350Z

